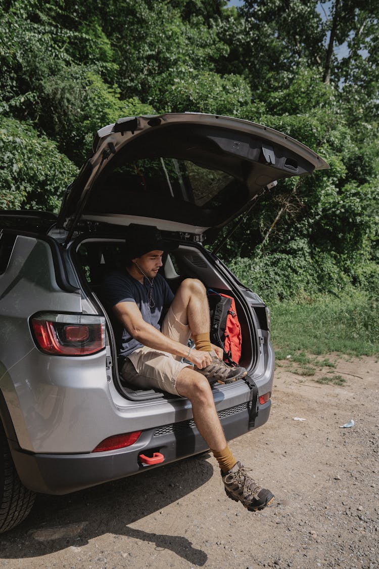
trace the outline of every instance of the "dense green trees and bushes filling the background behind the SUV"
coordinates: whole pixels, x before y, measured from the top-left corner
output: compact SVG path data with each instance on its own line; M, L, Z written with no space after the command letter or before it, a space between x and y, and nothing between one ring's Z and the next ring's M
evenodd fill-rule
M3 1L1 205L56 209L72 162L120 117L238 116L330 170L278 183L225 261L265 299L377 294L377 17L377 0Z

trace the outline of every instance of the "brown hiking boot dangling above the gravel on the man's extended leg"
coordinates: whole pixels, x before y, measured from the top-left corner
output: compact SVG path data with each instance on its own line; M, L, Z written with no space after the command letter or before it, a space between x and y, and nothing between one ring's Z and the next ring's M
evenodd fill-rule
M270 490L261 488L255 480L248 476L245 467L240 462L236 463L226 475L222 474L222 480L227 496L235 502L242 502L249 512L263 510L274 499L274 494Z

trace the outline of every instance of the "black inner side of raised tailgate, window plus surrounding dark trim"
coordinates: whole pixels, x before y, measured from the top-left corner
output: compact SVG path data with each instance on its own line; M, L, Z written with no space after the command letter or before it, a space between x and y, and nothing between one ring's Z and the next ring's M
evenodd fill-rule
M233 145L234 133L221 134ZM99 174L86 211L199 227L224 224L249 201L245 180L252 165L224 151L214 135L213 129L184 125L139 136Z

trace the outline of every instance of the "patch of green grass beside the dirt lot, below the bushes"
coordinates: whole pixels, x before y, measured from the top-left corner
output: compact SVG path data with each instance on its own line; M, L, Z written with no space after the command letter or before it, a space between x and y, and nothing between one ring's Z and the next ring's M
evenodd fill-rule
M353 356L379 354L379 303L365 292L349 290L339 297L323 295L307 303L281 302L270 306L271 332L278 360L291 356L306 364L334 366L307 353L331 352Z

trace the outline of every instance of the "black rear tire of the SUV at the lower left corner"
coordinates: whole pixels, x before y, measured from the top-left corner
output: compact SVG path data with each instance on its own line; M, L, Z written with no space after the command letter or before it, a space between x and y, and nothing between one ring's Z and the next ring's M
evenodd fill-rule
M32 509L35 493L21 483L0 421L0 533L21 523Z

